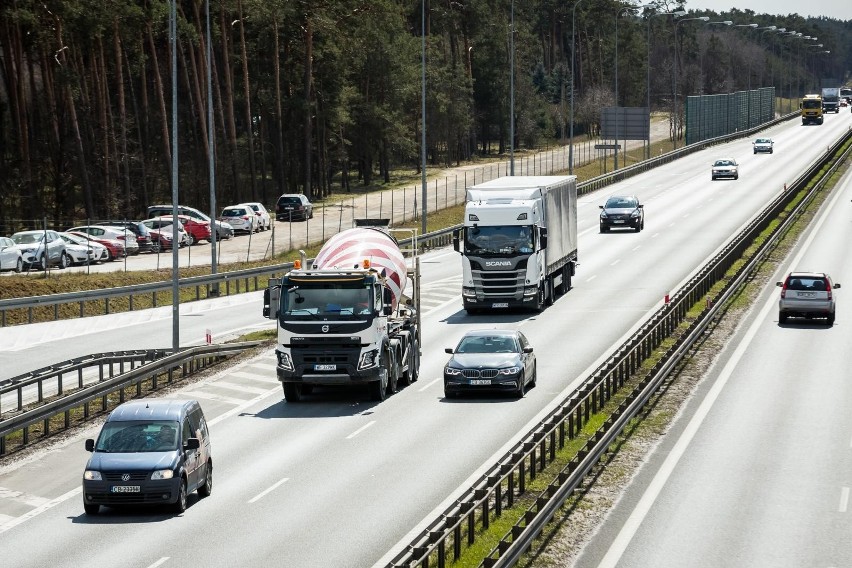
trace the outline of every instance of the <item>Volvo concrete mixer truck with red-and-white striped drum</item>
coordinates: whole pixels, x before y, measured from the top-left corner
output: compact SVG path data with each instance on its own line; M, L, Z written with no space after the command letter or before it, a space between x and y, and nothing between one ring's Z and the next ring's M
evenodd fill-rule
M406 232L400 248L394 233ZM278 325L278 380L287 402L316 386L365 385L384 400L420 368L420 265L416 231L357 220L304 257L264 293L263 315ZM406 256L407 255L407 256Z

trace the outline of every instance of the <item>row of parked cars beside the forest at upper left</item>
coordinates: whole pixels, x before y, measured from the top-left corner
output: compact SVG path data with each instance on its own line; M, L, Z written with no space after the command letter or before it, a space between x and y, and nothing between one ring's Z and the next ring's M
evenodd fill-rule
M218 219L185 205L177 207L174 219L172 205L148 207L148 218L142 221L109 220L70 227L65 231L20 231L11 237L0 237L0 270L21 272L30 268L46 270L48 266L109 262L142 252L170 250L213 239L231 239L237 232L255 233L272 228L272 218L260 202L229 205ZM278 198L275 218L279 221L307 220L313 217L313 205L301 194L284 194Z

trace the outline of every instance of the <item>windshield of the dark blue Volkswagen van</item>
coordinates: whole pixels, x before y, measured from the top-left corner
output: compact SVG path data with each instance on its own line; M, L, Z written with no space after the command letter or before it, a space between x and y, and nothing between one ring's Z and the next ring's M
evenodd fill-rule
M107 422L98 436L95 451L113 454L168 452L177 449L178 423L173 420Z

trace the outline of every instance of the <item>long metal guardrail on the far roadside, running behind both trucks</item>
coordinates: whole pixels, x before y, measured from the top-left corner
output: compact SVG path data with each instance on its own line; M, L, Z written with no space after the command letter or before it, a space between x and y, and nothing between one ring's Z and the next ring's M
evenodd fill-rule
M578 184L577 191L580 194L591 193L593 191L601 189L602 187L622 181L634 175L644 173L650 169L656 168L663 164L667 164L671 161L682 158L683 156L686 156L693 152L703 150L709 146L722 144L745 136L751 136L755 132L774 126L785 120L789 120L797 116L797 113L790 113L768 123L762 124L751 130L743 130L734 134L728 134L710 140L703 140L701 142L691 144L684 148L668 152L661 156L657 156L649 160L644 160L642 162L639 162L638 164L622 168L615 172L603 174L601 176L592 178L581 184ZM458 227L461 227L461 225L454 225L446 229L441 229L438 231L433 231L424 234L422 236L419 236L417 238L417 241L419 245L422 246L424 249L446 246L452 242L452 231ZM409 239L406 239L405 241L401 241L400 244L410 245L411 242ZM262 290L266 288L266 282L269 278L278 278L283 273L289 271L292 267L293 264L288 262L260 268L247 268L244 270L235 270L218 274L193 276L189 278L181 278L178 282L178 286L181 290L187 288L195 288L196 300L212 297L215 295L230 295L232 293L239 294L243 292ZM53 319L58 320L60 319L60 306L67 304L79 305L79 311L78 313L75 313L73 317L85 317L86 306L91 306L93 304L102 305L103 313L110 314L113 313L110 306L111 299L127 298L127 309L129 311L133 311L135 307L134 299L139 299L143 296L147 296L150 294L150 302L143 301L143 308L157 307L157 294L165 293L168 294L169 297L171 297L171 291L171 281L165 281L155 282L151 284L139 284L134 286L109 288L104 290L87 290L83 292L69 292L64 294L51 294L47 296L0 299L0 327L7 327L9 325L9 318L7 314L14 310L26 310L26 323L33 323L34 310L44 307L52 307ZM159 305L167 304L159 302Z

